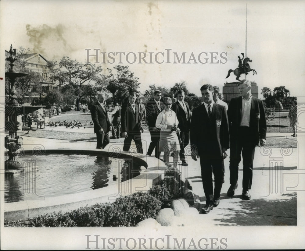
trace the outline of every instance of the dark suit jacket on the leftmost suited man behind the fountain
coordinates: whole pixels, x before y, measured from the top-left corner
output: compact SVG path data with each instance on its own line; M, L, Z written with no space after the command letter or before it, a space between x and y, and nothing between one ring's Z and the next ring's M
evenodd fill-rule
M91 118L94 122L95 133L98 133L101 128L104 130L104 133L109 132L111 126L111 122L107 116L106 105L104 103L102 105L104 106L105 111L102 109L99 102L96 102L91 108Z

